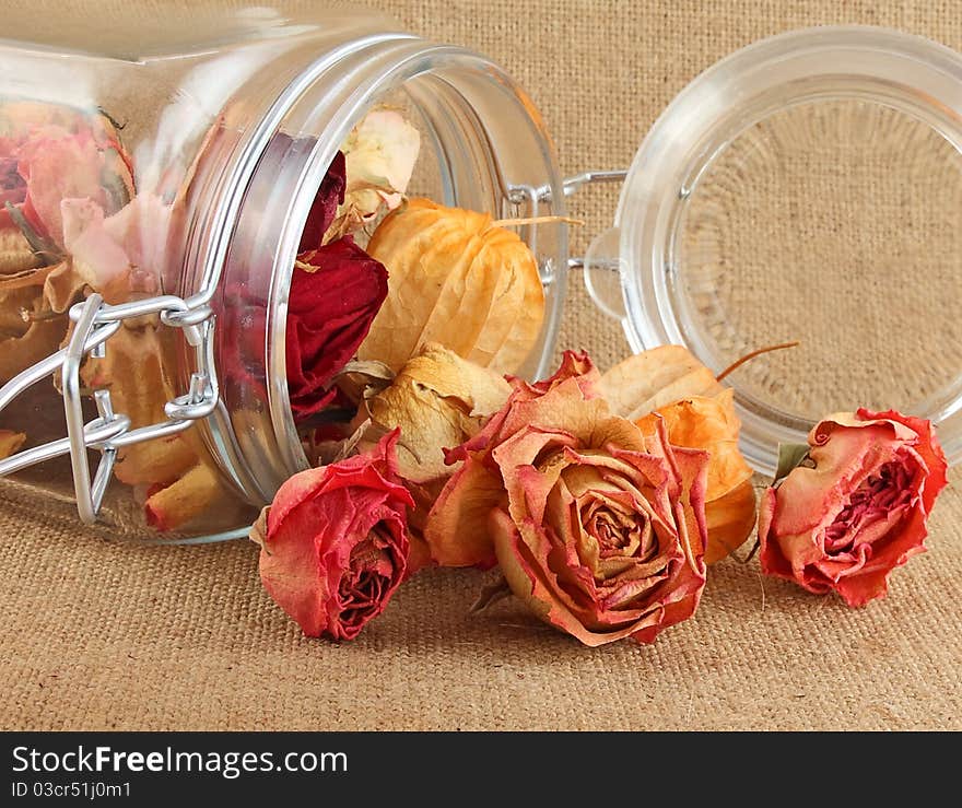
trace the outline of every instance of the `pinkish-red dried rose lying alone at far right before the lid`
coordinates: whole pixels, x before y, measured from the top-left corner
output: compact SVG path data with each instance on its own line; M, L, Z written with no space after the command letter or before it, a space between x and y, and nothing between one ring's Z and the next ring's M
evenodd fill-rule
M929 421L892 410L832 415L808 443L801 465L762 497L762 571L864 606L925 552L946 457Z

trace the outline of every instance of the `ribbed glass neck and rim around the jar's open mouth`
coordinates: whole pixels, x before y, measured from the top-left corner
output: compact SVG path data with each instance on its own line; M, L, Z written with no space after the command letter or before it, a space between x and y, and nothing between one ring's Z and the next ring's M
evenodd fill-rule
M404 95L427 133L422 156L436 160L432 185L438 201L504 218L518 213L512 187L547 186L559 200L547 212L563 212L543 125L530 101L486 59L395 34L357 40L318 65L258 124L265 134L251 141L247 164L219 196L224 212L211 214L220 237L195 265L200 286L212 292L221 391L218 413L202 428L204 438L256 504L269 502L285 479L308 466L288 390L291 280L317 189L340 144L371 107L391 93ZM553 231L541 245L545 266L558 273L549 302L556 324L566 238ZM553 337L553 327L545 329L526 368L529 375L543 366Z

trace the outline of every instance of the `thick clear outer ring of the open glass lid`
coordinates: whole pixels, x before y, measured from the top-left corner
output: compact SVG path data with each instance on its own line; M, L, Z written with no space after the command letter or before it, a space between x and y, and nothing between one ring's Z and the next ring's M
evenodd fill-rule
M823 26L781 34L726 57L692 81L655 122L622 188L615 229L623 325L634 351L685 344L716 373L712 350L678 305L679 233L689 199L717 156L752 126L791 107L864 99L919 120L962 151L962 56L920 36L875 26ZM962 379L962 367L958 368ZM779 443L803 443L813 422L737 383L742 450L773 472ZM962 460L962 389L927 417L952 422L945 449Z

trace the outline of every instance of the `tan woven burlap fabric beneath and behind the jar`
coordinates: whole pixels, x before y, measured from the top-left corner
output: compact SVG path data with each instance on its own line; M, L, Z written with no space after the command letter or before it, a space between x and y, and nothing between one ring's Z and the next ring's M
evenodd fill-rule
M543 110L566 172L626 164L690 79L769 34L876 23L962 48L951 2L380 5L507 66ZM578 200L585 233L610 223L614 198L602 190ZM625 350L579 279L562 343L586 346L605 364ZM253 546L118 546L3 503L0 726L958 729L955 488L930 525L930 552L895 574L887 600L859 611L763 581L756 562L728 561L713 569L696 617L655 646L590 651L511 602L468 614L482 576L441 571L403 587L356 642L331 645L302 639L262 593Z

